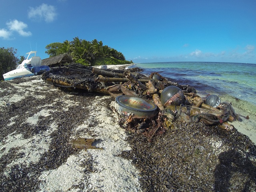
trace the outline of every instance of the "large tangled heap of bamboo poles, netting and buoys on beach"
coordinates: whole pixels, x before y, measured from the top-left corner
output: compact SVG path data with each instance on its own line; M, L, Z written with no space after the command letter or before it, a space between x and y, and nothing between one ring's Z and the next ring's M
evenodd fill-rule
M206 99L196 95L188 85L170 81L157 72L149 77L136 69L111 70L70 64L42 75L60 89L87 90L111 95L112 110L119 125L132 133L144 134L149 141L173 127L173 122L204 122L223 126L240 120L231 104L216 95ZM229 130L229 125L224 128Z

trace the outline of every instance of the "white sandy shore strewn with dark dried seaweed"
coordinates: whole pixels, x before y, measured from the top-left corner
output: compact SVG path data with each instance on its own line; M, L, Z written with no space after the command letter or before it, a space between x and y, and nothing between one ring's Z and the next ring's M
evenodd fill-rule
M0 191L256 189L256 146L236 128L176 121L148 142L118 125L111 96L40 76L0 82L0 98ZM80 137L103 150L74 149Z

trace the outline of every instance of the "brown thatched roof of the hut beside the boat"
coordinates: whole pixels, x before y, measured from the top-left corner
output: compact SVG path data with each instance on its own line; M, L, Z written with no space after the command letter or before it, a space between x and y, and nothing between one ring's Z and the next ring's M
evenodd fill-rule
M64 63L72 63L72 58L67 54L61 54L53 57L49 57L42 60L42 65L49 67L61 67Z

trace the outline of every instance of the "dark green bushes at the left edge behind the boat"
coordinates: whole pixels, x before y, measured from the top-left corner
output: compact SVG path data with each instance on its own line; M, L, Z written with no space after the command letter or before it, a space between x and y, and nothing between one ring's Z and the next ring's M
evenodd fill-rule
M16 62L18 58L15 56L17 50L14 48L0 48L0 80L4 80L4 72L12 70L16 67Z

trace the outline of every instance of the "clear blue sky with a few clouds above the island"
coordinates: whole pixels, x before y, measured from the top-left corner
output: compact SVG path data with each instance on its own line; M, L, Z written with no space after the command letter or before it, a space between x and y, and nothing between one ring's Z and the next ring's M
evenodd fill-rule
M0 47L17 56L78 37L133 62L256 63L255 0L0 0Z

